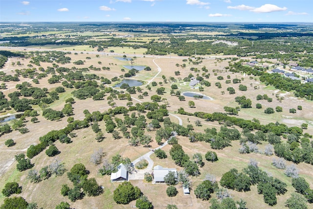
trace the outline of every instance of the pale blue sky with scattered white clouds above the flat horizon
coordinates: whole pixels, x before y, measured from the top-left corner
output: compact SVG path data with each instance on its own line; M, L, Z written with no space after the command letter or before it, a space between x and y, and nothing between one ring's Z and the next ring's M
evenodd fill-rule
M312 0L0 0L0 22L313 23Z

